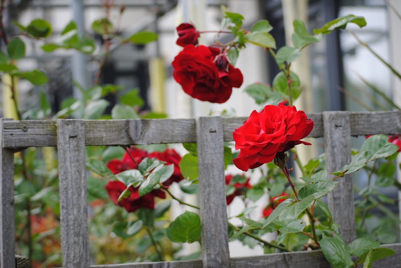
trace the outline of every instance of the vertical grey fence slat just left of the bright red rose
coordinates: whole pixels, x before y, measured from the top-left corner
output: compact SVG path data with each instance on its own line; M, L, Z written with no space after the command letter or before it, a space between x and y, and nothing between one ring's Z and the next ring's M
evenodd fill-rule
M197 117L196 137L203 268L229 268L221 117Z

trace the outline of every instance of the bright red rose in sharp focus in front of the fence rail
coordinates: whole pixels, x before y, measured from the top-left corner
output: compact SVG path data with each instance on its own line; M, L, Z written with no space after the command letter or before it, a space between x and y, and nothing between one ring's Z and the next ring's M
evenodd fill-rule
M235 149L240 150L238 157L233 159L235 166L247 171L269 163L295 145L311 145L300 139L309 135L313 124L294 106L266 105L260 113L253 111L233 132Z

